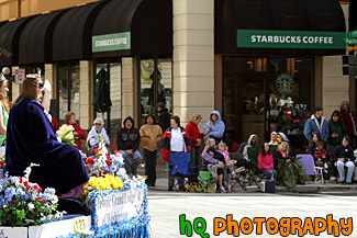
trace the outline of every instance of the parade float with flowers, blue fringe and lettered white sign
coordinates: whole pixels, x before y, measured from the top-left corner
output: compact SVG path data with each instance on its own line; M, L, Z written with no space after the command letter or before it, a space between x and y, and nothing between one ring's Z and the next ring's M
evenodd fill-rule
M62 126L58 140L72 144L71 132ZM24 177L0 180L0 237L149 237L145 178L131 179L121 168L121 152L110 155L102 139L91 156L81 156L90 181L76 201L90 215L56 211L55 190L29 181L31 168L38 166L32 163Z

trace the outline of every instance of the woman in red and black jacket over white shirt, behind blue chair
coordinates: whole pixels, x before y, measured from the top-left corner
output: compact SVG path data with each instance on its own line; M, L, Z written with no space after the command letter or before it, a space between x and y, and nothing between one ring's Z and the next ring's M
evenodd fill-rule
M187 136L185 128L180 126L179 116L171 116L170 126L165 131L161 139L160 150L163 152L163 159L166 161L168 191L172 191L174 178L169 168L170 152L191 151L191 139ZM186 191L182 177L178 177L178 183L179 190Z

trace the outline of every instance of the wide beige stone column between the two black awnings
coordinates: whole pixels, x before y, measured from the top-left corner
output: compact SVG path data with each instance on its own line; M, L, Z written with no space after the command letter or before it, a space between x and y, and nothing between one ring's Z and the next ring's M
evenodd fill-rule
M174 114L185 126L214 109L214 0L172 0Z

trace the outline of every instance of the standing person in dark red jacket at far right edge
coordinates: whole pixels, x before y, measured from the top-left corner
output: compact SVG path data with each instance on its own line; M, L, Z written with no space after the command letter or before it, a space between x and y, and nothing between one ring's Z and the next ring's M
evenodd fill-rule
M342 121L345 123L347 128L347 135L349 136L350 143L349 145L355 148L355 136L357 135L356 132L356 115L354 111L350 110L348 101L343 101L341 105L341 117Z

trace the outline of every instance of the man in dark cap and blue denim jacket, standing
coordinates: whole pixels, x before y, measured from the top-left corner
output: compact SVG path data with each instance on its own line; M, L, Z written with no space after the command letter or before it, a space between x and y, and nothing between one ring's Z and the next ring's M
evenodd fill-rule
M303 134L310 143L315 133L320 133L322 140L326 143L328 137L328 123L323 116L324 112L321 106L316 106L315 114L313 114L306 122L304 126Z

